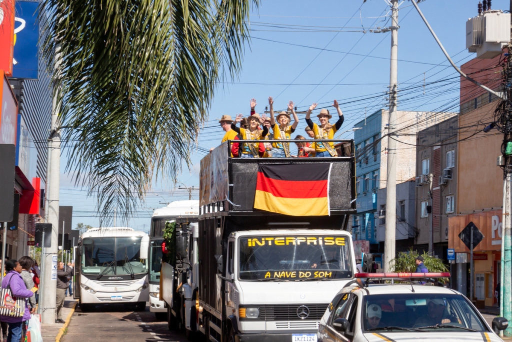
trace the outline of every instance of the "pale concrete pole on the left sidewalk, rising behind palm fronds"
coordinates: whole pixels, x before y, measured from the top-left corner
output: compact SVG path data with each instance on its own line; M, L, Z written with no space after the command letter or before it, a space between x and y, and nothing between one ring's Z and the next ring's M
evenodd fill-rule
M60 65L60 47L55 48L55 68L58 72ZM52 276L53 265L58 258L58 230L59 230L59 182L60 182L60 132L59 132L59 103L58 103L58 85L53 85L52 100L52 122L50 127L50 136L48 138L48 160L46 168L46 202L45 218L46 222L52 224L52 245L41 250L41 258L44 256L44 265L42 269L41 287L44 297L40 297L41 305L41 323L54 324L55 322L55 301L57 292L56 273Z

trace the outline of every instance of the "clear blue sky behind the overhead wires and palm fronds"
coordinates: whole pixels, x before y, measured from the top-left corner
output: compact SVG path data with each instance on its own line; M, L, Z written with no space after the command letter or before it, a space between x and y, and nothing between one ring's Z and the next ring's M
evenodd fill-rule
M478 0L425 0L419 4L447 52L457 65L476 56L465 50L465 23L477 15ZM494 0L493 9L508 10L509 1ZM274 108L293 100L298 110L313 102L325 107L337 99L345 115L342 131L374 111L385 108L389 86L390 33L370 29L390 26L390 7L384 0L273 0L263 1L250 15L251 41L246 46L243 69L232 82L221 83L198 137L198 145L217 146L224 134L216 118L224 114L249 114L249 100L257 99L257 112L274 97ZM399 11L399 110L458 111L458 77L449 67L434 38L410 1ZM364 33L366 31L366 33ZM423 83L425 87L423 89ZM304 114L296 134L303 134ZM350 133L343 137L351 138ZM204 153L194 151L190 170L183 166L178 180L199 186L199 163ZM61 170L66 157L63 156ZM74 187L61 174L60 205L74 208L73 225L96 226L95 198ZM157 196L156 194L163 196ZM193 192L198 199L198 191ZM130 219L134 229L148 230L159 202L188 199L184 190L156 183Z

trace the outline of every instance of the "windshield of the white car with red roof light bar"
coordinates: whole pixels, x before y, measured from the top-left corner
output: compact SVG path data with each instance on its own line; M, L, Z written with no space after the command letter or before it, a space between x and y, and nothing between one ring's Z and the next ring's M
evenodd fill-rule
M487 331L478 313L458 294L367 295L362 305L365 331Z

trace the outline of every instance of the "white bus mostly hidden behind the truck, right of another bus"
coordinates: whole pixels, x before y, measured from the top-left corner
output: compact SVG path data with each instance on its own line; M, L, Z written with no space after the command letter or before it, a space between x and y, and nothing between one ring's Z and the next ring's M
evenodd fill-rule
M160 300L160 268L162 267L162 242L165 223L175 221L178 224L197 222L199 217L198 200L177 200L166 207L157 209L151 217L150 243L150 311L158 319L167 320L167 308Z

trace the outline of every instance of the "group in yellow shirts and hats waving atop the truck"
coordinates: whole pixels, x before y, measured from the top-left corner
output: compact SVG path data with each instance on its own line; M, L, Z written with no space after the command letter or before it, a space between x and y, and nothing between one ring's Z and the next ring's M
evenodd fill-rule
M257 103L254 98L250 100L251 112L248 117L238 114L233 120L230 115L223 115L219 120L219 124L226 132L221 143L228 140L254 140L254 143L237 143L231 144L231 156L240 158L283 158L283 157L336 157L337 152L333 142L307 142L307 138L302 135L296 135L294 139L305 140L304 143L295 143L297 153L291 154L290 144L283 142L272 142L272 140L289 140L291 135L295 133L299 119L294 110L294 103L288 103L288 111L279 112L275 116L274 100L268 98L270 117L265 114L256 113L255 107ZM332 118L329 110L323 108L318 115L318 123L314 123L311 119L311 113L317 107L312 104L306 113L306 134L310 138L317 140L330 140L334 138L336 133L343 124L343 112L339 109L338 102L334 100L334 107L338 114L338 119L334 125L329 120ZM291 113L291 116L290 116ZM293 117L293 123L292 123ZM240 125L240 127L237 126ZM213 150L210 149L210 152Z

